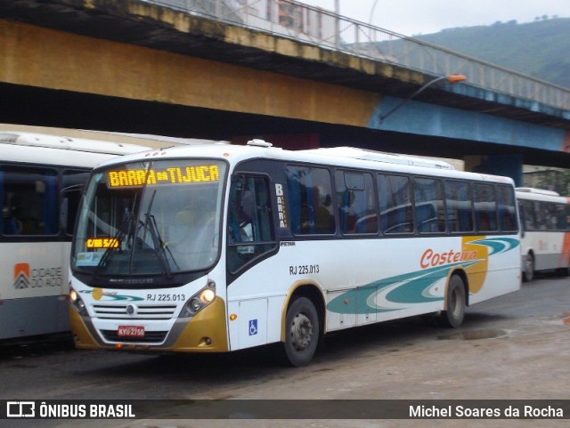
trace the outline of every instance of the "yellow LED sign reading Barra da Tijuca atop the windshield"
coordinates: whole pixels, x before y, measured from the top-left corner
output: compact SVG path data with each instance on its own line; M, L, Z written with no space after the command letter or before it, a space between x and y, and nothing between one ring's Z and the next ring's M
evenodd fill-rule
M157 184L186 184L192 182L217 182L220 174L217 165L168 166L155 169L129 169L107 173L110 188L140 187Z

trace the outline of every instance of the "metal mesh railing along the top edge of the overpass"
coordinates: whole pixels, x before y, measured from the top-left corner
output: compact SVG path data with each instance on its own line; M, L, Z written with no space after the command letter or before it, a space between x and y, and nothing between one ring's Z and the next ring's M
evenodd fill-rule
M566 110L561 116L570 119L569 88L294 0L142 1L435 77L463 74L469 86L529 101L526 109L542 111L542 104Z

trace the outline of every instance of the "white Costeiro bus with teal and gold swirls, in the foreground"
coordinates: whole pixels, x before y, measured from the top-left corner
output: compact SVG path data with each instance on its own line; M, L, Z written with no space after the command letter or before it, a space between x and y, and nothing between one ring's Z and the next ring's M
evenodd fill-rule
M221 352L322 335L520 287L509 178L443 162L265 141L151 151L98 166L71 251L81 349Z

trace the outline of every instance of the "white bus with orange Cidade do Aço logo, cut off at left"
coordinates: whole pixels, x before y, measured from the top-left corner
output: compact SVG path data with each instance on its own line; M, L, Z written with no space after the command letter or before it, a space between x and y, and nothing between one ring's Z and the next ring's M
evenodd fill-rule
M81 193L61 190L85 184L102 161L143 149L0 133L0 340L69 334L69 248Z

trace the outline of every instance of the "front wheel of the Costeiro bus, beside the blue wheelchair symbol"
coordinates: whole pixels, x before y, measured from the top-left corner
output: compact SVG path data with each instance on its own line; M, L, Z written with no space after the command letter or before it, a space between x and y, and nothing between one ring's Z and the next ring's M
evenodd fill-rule
M319 314L313 302L306 297L295 299L287 310L285 319L285 362L299 367L313 359L319 343Z

